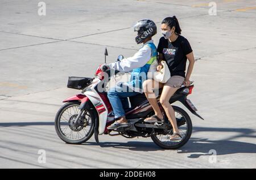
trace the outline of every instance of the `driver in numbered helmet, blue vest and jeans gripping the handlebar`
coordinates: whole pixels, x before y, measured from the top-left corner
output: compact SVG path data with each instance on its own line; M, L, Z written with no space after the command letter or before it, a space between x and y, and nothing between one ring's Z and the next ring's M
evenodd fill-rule
M133 57L109 64L110 68L119 72L131 72L131 78L129 82L121 82L108 91L108 98L115 115L115 123L108 129L130 127L131 124L127 122L124 110L129 108L127 97L142 93L142 83L147 79L146 74L150 65L156 60L157 49L152 40L152 36L156 34L155 23L150 19L139 20L134 26L134 31L138 32L138 36L135 37L136 43L143 43L143 46Z

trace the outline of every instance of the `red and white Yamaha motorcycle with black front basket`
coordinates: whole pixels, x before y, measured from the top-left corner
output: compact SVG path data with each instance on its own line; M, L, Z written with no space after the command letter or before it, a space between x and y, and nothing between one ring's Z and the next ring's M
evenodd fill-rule
M106 58L105 58L106 59ZM121 61L123 56L118 56ZM118 72L111 73L106 66L100 65L95 73L95 78L69 77L68 87L82 90L81 94L74 95L65 99L65 103L57 112L55 117L55 129L57 135L68 144L85 143L94 134L94 139L99 143L99 135L123 136L126 138L151 137L152 141L164 149L178 149L187 143L192 133L191 118L182 108L172 106L175 111L177 126L180 131L181 139L171 141L173 133L172 125L168 120L162 106L159 107L163 112L164 123L146 123L144 119L154 115L150 103L144 94L130 97L130 108L126 111L126 119L131 126L109 130L107 127L114 123L112 106L107 97L106 90L102 91L102 86L106 85L111 78L117 76ZM193 83L193 82L192 82ZM181 86L170 98L170 104L179 101L192 114L197 114L197 109L187 98L192 93L194 85ZM106 89L106 88L105 88ZM159 90L161 94L162 89ZM204 120L204 119L203 119Z

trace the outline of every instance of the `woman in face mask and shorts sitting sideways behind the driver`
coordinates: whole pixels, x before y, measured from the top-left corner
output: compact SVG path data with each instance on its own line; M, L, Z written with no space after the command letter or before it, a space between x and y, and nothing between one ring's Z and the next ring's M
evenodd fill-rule
M167 118L170 120L174 133L170 140L175 141L181 139L179 129L177 128L174 109L169 103L169 99L181 85L189 86L195 58L192 48L185 37L181 36L181 29L176 16L165 18L161 24L163 37L160 38L158 44L159 64L160 61L166 61L171 73L171 78L166 83L159 83L154 79L147 79L143 83L144 93L155 111L155 115L144 120L144 122L155 123L163 122L163 114L160 111L158 102L154 94L154 89L162 88L160 103L166 112ZM189 61L187 73L185 73L186 62ZM162 69L162 65L157 66L157 70Z

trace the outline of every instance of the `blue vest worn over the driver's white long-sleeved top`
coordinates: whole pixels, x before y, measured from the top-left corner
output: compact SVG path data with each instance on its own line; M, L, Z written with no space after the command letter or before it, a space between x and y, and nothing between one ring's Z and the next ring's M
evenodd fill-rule
M147 63L141 68L133 69L133 72L131 72L129 85L135 87L136 89L142 89L142 83L147 79L147 72L150 68L150 65L156 60L158 56L158 52L154 43L148 43L146 45L148 45L151 49L150 60L147 61Z

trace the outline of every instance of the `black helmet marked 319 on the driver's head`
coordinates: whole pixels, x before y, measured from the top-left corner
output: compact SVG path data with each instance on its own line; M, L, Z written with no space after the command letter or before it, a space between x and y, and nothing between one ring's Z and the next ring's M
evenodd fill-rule
M156 25L150 19L142 19L135 24L134 31L138 31L138 36L135 37L136 43L141 44L147 37L156 34Z

